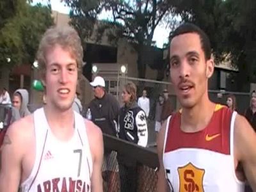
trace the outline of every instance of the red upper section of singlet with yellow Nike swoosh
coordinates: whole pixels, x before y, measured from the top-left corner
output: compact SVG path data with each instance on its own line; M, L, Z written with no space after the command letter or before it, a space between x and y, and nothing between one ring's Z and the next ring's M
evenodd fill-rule
M202 148L221 154L230 154L230 123L232 111L218 105L209 124L202 131L183 132L180 129L181 113L170 119L164 152L179 148ZM207 138L209 141L207 141Z

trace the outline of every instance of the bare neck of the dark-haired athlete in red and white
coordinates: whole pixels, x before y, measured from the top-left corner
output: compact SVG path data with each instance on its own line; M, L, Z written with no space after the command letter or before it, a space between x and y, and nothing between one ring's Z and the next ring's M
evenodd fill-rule
M210 122L216 104L205 97L193 108L182 108L180 129L184 132L197 132L204 129Z

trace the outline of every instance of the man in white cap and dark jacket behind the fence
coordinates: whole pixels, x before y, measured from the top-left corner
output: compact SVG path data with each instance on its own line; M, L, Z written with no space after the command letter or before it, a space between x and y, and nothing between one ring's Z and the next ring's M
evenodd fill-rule
M120 109L116 98L105 91L105 81L97 76L90 83L93 88L94 99L89 104L92 115L92 122L100 127L103 133L117 136L118 112ZM115 162L116 161L116 162ZM116 152L104 151L103 176L108 182L108 191L113 191L112 182L116 182L116 172L118 172Z

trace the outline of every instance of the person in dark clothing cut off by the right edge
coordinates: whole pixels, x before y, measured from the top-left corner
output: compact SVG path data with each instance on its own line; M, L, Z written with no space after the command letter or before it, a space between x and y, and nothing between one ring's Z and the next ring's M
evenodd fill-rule
M250 107L246 109L244 116L250 122L251 126L253 127L254 131L256 131L256 92L253 90L251 95L251 103Z

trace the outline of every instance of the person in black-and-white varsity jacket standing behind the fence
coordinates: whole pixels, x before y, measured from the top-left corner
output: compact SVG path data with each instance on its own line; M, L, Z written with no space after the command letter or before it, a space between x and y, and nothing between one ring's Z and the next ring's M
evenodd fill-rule
M127 83L122 92L124 106L120 109L118 125L119 138L141 147L147 146L147 118L136 102L136 86ZM118 155L121 192L137 191L137 164L127 156Z

